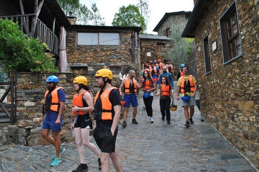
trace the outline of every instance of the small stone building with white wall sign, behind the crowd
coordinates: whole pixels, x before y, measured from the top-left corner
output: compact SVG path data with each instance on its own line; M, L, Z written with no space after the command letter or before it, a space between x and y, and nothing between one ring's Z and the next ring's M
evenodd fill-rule
M171 38L164 36L139 35L140 40L140 61L146 64L147 61L166 58L162 54L164 48L171 47ZM141 65L142 66L142 65Z

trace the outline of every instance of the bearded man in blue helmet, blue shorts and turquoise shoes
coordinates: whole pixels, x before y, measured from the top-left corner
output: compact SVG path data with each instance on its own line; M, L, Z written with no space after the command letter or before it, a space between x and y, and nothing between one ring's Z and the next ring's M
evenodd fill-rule
M56 166L61 162L60 153L63 153L65 150L61 147L59 131L62 129L66 92L64 88L57 86L58 78L55 75L48 76L46 83L48 90L45 93L45 104L43 105L42 115L38 122L42 122L43 116L46 114L46 118L42 124L42 136L55 146L56 153L50 165ZM52 131L53 136L49 135L49 130Z

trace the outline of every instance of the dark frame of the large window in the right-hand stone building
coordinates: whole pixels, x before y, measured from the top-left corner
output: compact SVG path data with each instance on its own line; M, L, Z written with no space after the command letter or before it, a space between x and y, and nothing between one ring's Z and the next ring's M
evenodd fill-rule
M228 19L231 18L233 13L235 14L235 17L236 17L236 23L232 24L230 29L232 29L233 26L236 24L237 32L235 34L233 34L230 38L228 38L228 29L227 29L226 23L227 23ZM241 41L236 1L232 2L232 4L228 7L228 9L225 10L225 12L222 14L222 16L219 19L219 23L220 23L220 33L221 33L221 48L222 48L222 56L223 56L222 65L225 65L225 64L243 56L243 47L242 47L242 41ZM236 39L237 37L239 37L241 54L236 55L235 57L232 57L230 44L231 44L231 41ZM239 47L239 46L235 45L235 49L237 49L237 47ZM238 53L238 51L237 51L237 53Z

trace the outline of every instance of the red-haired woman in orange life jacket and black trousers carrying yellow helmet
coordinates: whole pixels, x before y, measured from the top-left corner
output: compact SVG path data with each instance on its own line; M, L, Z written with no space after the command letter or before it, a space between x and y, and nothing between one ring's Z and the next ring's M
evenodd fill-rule
M162 76L162 84L159 85L158 92L155 95L156 96L160 95L159 104L160 104L160 111L162 114L162 120L164 120L166 116L167 125L170 125L170 104L171 104L170 97L172 97L172 102L174 102L174 98L173 98L171 86L166 76Z

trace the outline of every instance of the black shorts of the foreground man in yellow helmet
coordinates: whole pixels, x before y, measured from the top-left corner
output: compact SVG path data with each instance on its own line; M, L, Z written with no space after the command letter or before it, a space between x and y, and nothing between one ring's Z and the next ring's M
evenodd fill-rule
M94 129L93 138L97 146L101 149L101 152L113 153L115 152L115 142L118 134L118 127L116 128L114 135L112 136L111 129L97 130Z

